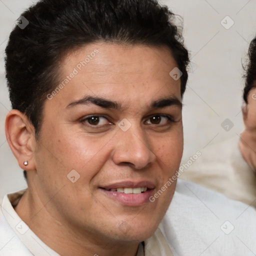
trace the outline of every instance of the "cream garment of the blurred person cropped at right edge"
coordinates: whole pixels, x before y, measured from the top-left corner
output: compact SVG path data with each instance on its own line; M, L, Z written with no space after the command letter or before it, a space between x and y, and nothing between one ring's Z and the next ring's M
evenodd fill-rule
M237 135L206 146L179 177L256 207L256 173L243 159Z

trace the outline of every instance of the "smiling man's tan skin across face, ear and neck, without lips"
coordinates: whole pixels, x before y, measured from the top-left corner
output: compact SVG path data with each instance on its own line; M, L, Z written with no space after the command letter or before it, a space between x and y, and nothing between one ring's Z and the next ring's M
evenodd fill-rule
M147 180L154 194L175 173L183 151L180 79L169 76L176 63L165 47L102 42L69 52L61 75L71 73L95 48L96 56L45 100L38 140L26 116L17 110L7 114L10 148L28 172L28 189L15 210L62 256L130 256L154 233L175 183L154 202L138 206L124 205L99 187ZM121 109L94 103L67 107L86 95L116 101ZM166 98L172 103L149 107ZM102 117L92 122L91 114ZM118 127L123 118L131 123L125 132ZM66 176L72 169L80 174L75 183Z

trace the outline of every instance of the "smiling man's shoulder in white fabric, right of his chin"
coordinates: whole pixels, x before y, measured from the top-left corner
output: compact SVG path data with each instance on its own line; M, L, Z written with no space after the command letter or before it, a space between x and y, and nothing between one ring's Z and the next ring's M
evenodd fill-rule
M253 207L184 180L178 180L160 224L174 251L183 256L250 255L256 251L255 227Z

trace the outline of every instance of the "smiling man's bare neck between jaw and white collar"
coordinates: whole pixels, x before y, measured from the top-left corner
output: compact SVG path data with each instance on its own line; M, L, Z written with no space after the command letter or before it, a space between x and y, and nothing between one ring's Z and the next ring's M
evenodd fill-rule
M29 189L14 208L19 217L51 249L62 256L116 255L135 256L138 242L114 241L100 234L65 223L50 203L43 204L36 190ZM63 244L65 244L63 246Z

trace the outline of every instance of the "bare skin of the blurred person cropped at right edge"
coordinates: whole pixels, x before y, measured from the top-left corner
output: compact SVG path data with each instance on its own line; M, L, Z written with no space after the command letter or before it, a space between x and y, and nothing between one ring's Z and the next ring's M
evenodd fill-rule
M242 107L245 128L241 133L239 147L244 160L256 170L256 87L249 91L247 101Z

